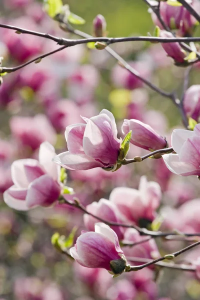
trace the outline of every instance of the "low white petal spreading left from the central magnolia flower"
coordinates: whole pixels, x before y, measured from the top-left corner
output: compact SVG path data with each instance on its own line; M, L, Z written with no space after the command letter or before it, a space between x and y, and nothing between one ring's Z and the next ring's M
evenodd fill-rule
M70 170L88 170L104 165L86 154L72 154L69 151L62 152L53 158L53 161Z

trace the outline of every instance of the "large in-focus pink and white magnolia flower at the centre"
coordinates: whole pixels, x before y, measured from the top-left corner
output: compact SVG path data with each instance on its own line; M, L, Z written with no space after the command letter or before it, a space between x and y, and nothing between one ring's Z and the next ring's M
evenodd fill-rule
M113 166L120 147L113 114L103 109L98 115L83 119L86 124L66 127L68 151L58 154L53 161L72 170Z

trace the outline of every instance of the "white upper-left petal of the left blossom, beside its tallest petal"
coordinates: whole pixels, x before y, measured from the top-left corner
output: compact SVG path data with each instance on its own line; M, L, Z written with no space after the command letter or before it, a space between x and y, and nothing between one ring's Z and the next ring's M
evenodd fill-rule
M37 164L36 159L18 159L15 160L11 165L11 177L14 185L18 187L26 187L29 181L26 177L24 164L35 165Z

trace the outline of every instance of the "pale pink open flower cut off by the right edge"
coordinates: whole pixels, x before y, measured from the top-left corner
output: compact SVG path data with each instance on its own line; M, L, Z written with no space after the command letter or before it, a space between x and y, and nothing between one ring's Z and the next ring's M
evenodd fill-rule
M162 158L167 168L181 176L200 175L200 124L193 131L174 129L171 146L175 153L164 154Z

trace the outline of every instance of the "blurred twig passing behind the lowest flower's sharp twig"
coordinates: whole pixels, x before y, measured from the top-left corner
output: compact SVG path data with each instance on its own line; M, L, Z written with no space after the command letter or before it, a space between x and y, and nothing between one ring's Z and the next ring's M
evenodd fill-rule
M126 259L128 261L133 261L133 262L151 262L152 260L148 258L141 258L141 257L128 257L126 256ZM195 272L196 267L194 265L187 265L187 264L179 264L179 263L174 263L174 262L164 262L164 261L157 261L154 264L159 265L161 267L167 267L167 268L173 268L176 270L181 270L181 271L190 271L190 272Z

